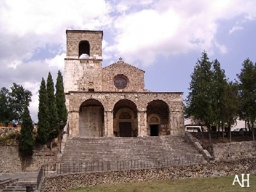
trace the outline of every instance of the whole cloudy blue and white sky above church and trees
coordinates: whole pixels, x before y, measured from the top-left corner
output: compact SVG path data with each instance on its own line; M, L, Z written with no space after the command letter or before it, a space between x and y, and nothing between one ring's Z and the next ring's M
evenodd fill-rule
M0 0L0 88L33 93L50 71L64 70L66 29L104 31L103 66L123 61L145 70L145 88L184 92L202 51L237 79L246 58L256 62L254 0Z

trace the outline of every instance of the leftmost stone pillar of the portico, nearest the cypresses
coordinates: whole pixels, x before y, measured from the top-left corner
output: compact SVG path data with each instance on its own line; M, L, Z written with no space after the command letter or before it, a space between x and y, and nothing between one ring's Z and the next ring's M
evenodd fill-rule
M72 137L79 136L79 111L71 111L69 114L69 134Z

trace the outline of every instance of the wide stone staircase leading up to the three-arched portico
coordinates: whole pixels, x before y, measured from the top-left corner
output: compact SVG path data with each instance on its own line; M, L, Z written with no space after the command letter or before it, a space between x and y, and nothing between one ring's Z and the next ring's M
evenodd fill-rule
M61 163L83 161L122 161L163 158L201 157L193 145L182 136L159 136L137 138L68 138ZM205 160L205 159L204 159ZM195 163L197 163L195 161Z

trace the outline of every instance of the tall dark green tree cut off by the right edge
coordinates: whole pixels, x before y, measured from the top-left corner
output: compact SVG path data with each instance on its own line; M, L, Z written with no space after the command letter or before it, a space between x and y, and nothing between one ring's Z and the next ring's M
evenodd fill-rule
M254 129L253 125L256 120L256 65L249 58L244 60L243 68L240 74L237 74L239 79L239 97L241 108L239 116L252 125L253 141Z

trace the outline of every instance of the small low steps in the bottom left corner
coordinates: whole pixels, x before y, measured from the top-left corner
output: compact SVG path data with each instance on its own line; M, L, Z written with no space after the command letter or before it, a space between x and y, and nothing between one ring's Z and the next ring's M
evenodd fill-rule
M18 179L9 186L6 186L3 189L3 192L7 191L36 191L36 184L37 180L36 178L26 178L26 179Z

